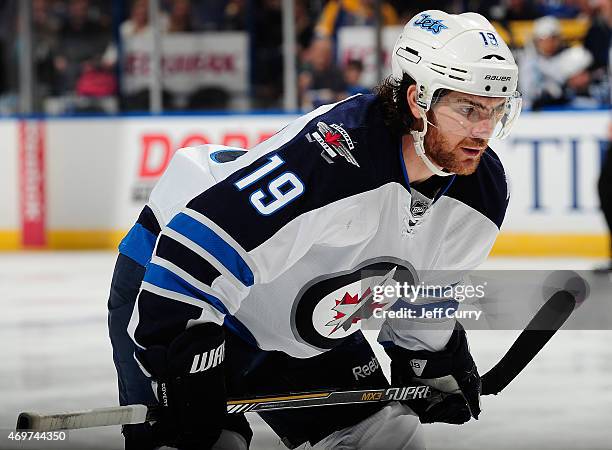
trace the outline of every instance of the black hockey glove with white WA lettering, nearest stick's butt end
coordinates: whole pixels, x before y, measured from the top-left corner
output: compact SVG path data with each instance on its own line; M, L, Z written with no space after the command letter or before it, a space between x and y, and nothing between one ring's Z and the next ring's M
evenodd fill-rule
M137 353L161 406L153 424L158 445L200 450L217 441L227 401L224 352L223 328L207 323L187 329L168 347L152 345Z

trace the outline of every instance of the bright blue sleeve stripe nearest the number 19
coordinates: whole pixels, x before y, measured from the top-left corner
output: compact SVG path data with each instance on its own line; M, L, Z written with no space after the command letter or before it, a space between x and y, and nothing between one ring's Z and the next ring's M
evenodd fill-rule
M253 285L253 271L246 261L233 247L205 224L185 213L179 213L170 221L168 228L185 236L189 241L215 258L242 284L247 287ZM194 249L192 248L192 250Z

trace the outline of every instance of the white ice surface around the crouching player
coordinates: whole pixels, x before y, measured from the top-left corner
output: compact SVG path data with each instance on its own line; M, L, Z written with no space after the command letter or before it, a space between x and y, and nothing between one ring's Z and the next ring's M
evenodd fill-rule
M111 252L0 254L0 430L24 410L55 412L117 404L106 330ZM483 268L589 269L592 260L490 260ZM610 300L612 309L612 299ZM471 331L481 373L515 331ZM368 338L374 336L369 335ZM502 394L482 399L479 421L427 425L429 448L612 448L612 331L561 331ZM378 351L381 360L387 360ZM383 367L385 364L383 364ZM256 415L253 449L284 448ZM0 439L1 448L24 447ZM118 427L70 433L54 448L119 449Z

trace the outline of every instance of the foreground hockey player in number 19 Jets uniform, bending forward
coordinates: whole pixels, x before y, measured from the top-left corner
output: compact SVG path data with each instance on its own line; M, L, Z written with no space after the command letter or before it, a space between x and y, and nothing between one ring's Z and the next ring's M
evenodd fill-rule
M510 50L478 14L425 11L392 69L376 95L322 106L246 153L176 154L120 245L109 300L121 402L154 402L152 380L164 406L153 426L126 427L128 448L246 448L229 396L387 386L351 313L356 283L487 257L508 201L487 144L520 112ZM394 383L446 394L262 413L287 446L423 448L421 423L478 418L459 323L388 320L378 340Z

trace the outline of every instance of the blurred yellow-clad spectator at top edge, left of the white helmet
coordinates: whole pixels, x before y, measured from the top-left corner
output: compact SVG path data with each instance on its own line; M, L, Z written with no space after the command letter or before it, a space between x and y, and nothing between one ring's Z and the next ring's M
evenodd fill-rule
M374 25L376 0L330 0L317 22L315 33L318 38L332 39L335 43L338 30L345 26ZM397 25L397 12L389 3L381 2L383 25Z

